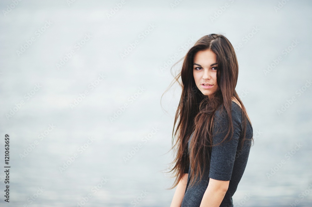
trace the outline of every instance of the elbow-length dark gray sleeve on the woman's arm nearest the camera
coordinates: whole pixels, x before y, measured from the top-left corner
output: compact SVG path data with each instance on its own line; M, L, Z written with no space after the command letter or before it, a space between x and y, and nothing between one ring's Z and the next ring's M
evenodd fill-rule
M241 134L239 109L237 107L232 107L232 123L234 129L232 139L228 141L231 137L230 133L230 135L223 143L211 148L209 177L212 179L221 181L231 180L237 144ZM220 143L225 138L227 130L230 127L227 115L225 115L226 111L223 110L222 114L220 114L219 111L217 112L213 120L214 127L212 134L212 145Z

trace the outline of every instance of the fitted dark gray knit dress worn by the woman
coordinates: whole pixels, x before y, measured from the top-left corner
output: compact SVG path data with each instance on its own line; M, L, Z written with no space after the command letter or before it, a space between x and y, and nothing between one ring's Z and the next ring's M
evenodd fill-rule
M220 143L227 133L229 123L225 114L225 109L222 114L220 113L220 109L218 109L215 113L212 138L213 144ZM190 166L186 166L184 173L188 173L188 182L181 207L200 206L202 197L209 183L209 178L221 181L230 181L229 188L220 207L233 207L232 196L234 195L237 185L245 171L251 147L251 138L253 136L253 129L247 119L246 140L244 141L242 150L239 151L243 136L241 122L242 109L238 104L232 101L232 123L234 129L233 137L229 142L227 142L229 139L227 138L224 143L212 147L210 166L209 163L206 164L203 179L199 184L188 187L190 183ZM192 135L188 141L187 156L189 156L190 152L189 143L192 139Z

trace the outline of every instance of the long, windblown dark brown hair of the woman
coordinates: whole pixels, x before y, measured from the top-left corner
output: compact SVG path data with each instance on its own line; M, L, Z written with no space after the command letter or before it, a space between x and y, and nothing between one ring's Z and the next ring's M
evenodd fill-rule
M213 94L211 98L208 98L208 96L203 95L202 92L199 91L193 77L194 56L198 51L207 49L210 49L217 55L217 84L220 88L220 90ZM173 186L168 189L173 189L178 185L178 182L183 176L185 166L190 165L191 181L189 186L192 186L198 177L202 180L206 163L209 163L210 161L209 152L212 147L213 118L218 108L221 109L221 113L224 109L226 110L227 119L229 120L230 125L227 135L222 142L224 142L230 134L230 139L232 138L234 131L231 113L232 97L236 98L240 103L243 112L243 140L241 146L246 137L248 116L242 101L235 91L238 78L238 63L234 48L230 41L221 34L205 35L197 40L194 46L188 50L183 59L181 72L178 73L173 80L174 82L178 82L182 87L182 94L175 113L172 131L171 149L177 156L173 162L170 163L173 167L170 167L172 169L168 171L173 172L176 179ZM181 60L182 59L178 62ZM182 83L178 80L180 77ZM171 86L174 82L172 82ZM167 91L168 89L165 92ZM193 136L189 146L190 153L188 155L187 144L192 133ZM190 162L190 160L192 160L192 162Z

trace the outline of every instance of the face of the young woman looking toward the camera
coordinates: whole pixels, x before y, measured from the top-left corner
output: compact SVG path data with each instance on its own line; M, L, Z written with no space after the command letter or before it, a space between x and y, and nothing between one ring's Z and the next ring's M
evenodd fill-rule
M203 95L211 97L219 90L217 84L217 55L210 49L198 51L194 56L193 76Z

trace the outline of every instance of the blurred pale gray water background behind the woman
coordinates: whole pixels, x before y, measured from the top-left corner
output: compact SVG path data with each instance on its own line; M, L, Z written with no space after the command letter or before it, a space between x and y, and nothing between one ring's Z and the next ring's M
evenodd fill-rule
M173 63L210 33L236 49L236 91L254 129L234 206L311 206L310 1L0 7L1 206L169 206L175 189L164 171L181 88L160 98Z

